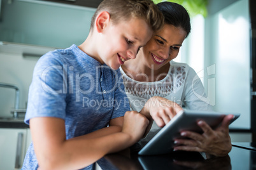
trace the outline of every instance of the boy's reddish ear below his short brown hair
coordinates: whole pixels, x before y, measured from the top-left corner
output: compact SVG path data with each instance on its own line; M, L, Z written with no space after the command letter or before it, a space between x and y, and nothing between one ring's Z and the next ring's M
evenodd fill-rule
M102 11L96 18L96 29L97 32L103 32L104 28L110 22L110 13Z

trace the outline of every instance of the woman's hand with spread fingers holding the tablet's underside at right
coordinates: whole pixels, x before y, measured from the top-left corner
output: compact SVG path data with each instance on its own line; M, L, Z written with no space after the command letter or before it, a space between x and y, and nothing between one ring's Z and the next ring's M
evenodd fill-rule
M226 115L222 121L222 125L215 131L206 122L197 122L197 125L203 129L203 134L192 131L181 132L181 136L190 138L190 140L174 140L174 143L181 145L174 147L174 150L206 152L217 157L223 157L229 154L232 148L231 138L229 136L229 123L233 117L234 115Z

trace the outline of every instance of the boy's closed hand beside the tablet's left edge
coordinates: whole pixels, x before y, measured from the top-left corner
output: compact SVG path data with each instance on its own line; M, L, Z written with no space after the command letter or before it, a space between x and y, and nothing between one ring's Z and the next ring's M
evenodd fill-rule
M131 142L135 143L138 141L148 126L149 121L142 114L136 111L127 111L124 115L124 125L122 132L131 136Z

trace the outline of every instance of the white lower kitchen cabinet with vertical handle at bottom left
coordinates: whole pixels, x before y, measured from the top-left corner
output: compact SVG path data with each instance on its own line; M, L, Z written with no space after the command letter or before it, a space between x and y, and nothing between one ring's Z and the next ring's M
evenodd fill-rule
M30 143L29 128L0 128L0 169L21 169Z

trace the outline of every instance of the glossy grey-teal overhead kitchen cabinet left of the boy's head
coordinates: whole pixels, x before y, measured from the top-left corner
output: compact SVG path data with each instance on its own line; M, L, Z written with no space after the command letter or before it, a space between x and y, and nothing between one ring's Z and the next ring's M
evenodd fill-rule
M96 8L62 1L1 1L0 41L52 48L82 44L96 11Z

